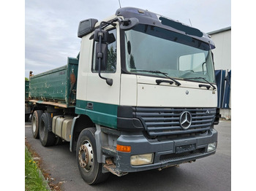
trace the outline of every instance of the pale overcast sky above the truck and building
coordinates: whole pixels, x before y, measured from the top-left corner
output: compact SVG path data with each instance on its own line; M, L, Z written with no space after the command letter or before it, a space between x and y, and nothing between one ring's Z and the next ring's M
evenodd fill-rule
M121 7L138 7L210 32L231 26L230 0L120 0ZM80 51L78 23L114 15L118 0L26 0L25 76L67 64Z

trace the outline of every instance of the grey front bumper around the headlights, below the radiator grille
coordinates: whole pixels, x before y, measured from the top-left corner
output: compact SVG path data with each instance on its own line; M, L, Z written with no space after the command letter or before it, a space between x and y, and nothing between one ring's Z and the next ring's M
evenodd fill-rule
M195 136L186 139L176 140L148 140L143 134L121 135L117 139L117 144L129 145L132 147L131 152L117 152L116 168L122 172L146 171L155 168L166 168L171 165L178 165L196 160L201 157L213 155L216 149L207 152L208 144L217 142L217 130L210 129L207 134ZM186 145L193 145L193 151L178 151L178 148ZM154 153L152 164L148 165L131 165L130 158L132 155L141 155Z

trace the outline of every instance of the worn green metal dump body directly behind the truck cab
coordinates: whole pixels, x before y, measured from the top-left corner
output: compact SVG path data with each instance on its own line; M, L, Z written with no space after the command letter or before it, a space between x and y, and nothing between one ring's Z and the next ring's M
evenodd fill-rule
M30 78L29 100L73 107L76 101L77 77L78 58L67 58L66 66Z

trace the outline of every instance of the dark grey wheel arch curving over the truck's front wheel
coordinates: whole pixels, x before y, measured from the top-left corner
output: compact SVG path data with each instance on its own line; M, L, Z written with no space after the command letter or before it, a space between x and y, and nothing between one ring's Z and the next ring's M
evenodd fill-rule
M70 152L76 150L76 144L78 141L78 137L83 129L93 128L95 127L94 122L92 122L91 118L85 114L80 114L77 117L74 117L71 128L71 139L69 144Z

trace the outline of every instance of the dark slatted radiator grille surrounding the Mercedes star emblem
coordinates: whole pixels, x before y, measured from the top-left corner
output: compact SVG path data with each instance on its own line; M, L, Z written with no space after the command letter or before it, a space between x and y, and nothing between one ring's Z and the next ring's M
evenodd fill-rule
M184 130L180 125L181 113L192 115L192 124ZM143 122L149 136L169 136L183 133L203 133L209 130L216 114L216 108L154 108L133 107L133 116Z

